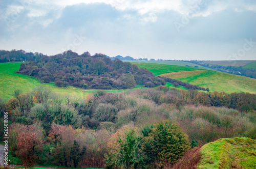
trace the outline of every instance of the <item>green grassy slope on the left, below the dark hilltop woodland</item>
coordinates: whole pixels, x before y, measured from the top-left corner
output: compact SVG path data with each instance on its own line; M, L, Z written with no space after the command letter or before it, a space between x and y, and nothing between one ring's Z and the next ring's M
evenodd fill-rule
M23 93L28 93L37 86L45 86L50 88L53 92L65 96L72 95L77 97L87 97L96 90L82 90L75 87L58 88L54 83L40 83L34 77L23 74L17 74L15 71L19 70L22 63L0 63L0 97L4 99L12 98L12 92L15 89L20 89ZM123 90L108 90L109 92L121 92Z

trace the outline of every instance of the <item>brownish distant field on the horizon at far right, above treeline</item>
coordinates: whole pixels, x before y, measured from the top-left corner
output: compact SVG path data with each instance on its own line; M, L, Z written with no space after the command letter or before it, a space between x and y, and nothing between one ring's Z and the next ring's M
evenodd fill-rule
M203 61L204 63L212 64L212 65L221 65L221 66L235 66L235 67L240 67L240 66L245 66L247 64L250 64L255 61Z

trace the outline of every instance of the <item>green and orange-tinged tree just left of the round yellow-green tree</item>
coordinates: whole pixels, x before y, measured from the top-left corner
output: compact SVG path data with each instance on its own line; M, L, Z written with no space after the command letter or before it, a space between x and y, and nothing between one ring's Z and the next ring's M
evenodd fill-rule
M106 168L137 168L144 165L142 136L133 126L123 126L108 143Z

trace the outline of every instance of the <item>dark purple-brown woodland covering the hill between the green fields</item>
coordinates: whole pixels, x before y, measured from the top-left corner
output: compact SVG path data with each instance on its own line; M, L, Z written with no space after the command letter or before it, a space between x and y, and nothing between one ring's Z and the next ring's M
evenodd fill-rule
M138 68L129 62L112 60L106 55L89 52L78 55L71 50L48 57L41 53L23 50L1 51L8 61L26 62L16 73L36 77L42 83L54 82L57 87L74 86L82 89L131 89L136 85L153 88L172 83L175 87L209 91L176 79L154 76L152 72ZM7 54L3 54L7 53ZM6 61L6 60L5 60Z

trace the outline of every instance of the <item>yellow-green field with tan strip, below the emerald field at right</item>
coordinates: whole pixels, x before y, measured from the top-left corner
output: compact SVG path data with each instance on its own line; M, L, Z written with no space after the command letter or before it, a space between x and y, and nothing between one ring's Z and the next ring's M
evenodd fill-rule
M178 79L203 88L209 88L211 92L256 93L256 79L228 73L210 70L197 70L166 73L161 74L161 76Z

